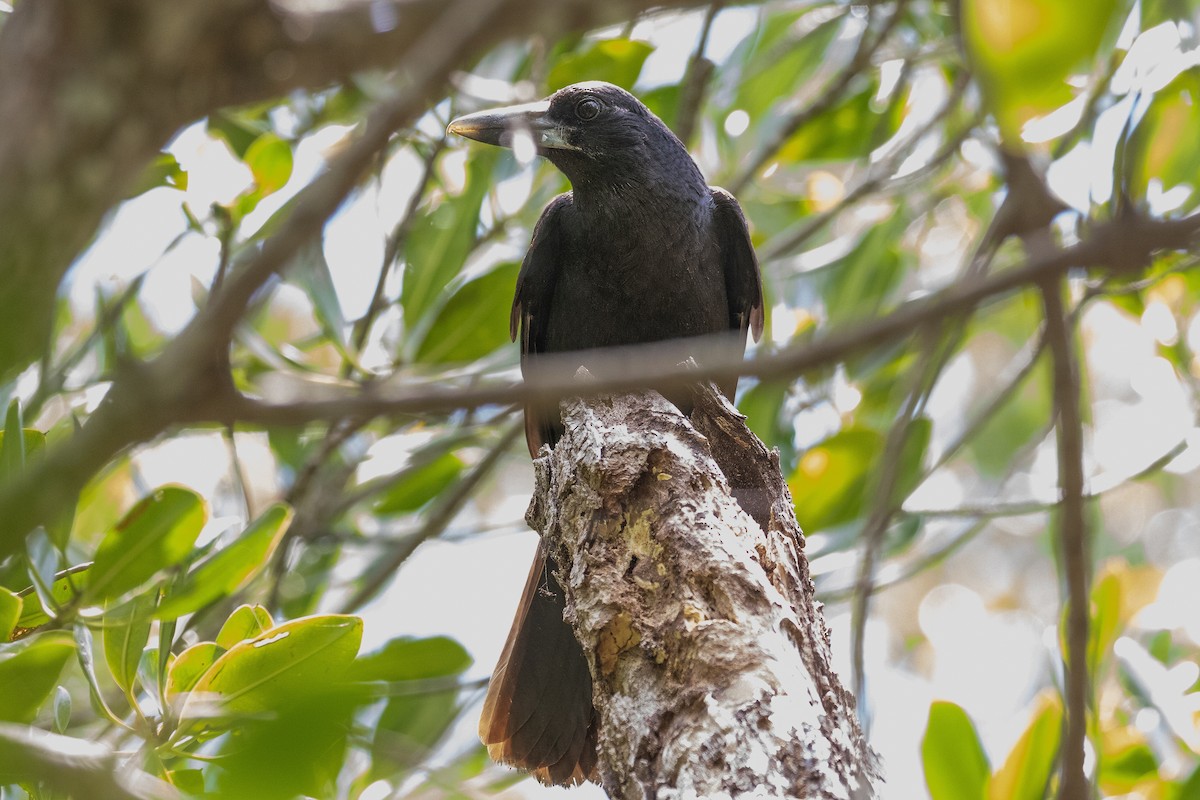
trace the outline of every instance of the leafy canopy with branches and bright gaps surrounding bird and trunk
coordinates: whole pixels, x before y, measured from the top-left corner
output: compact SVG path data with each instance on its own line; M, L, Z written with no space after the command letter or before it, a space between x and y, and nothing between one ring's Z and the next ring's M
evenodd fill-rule
M1200 798L1198 25L0 2L0 798L539 792L470 732L520 405L580 391L508 337L568 184L445 126L580 80L750 221L767 331L700 374L778 450L882 796ZM629 363L588 391L695 378Z

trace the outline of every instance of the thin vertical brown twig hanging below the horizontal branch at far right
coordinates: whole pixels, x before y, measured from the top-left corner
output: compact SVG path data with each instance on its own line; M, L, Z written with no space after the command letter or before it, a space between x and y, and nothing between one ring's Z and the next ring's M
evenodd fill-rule
M1054 404L1058 432L1058 486L1062 493L1060 558L1067 584L1066 735L1062 748L1062 800L1091 796L1084 772L1087 744L1088 567L1091 547L1084 519L1084 420L1080 411L1079 365L1069 317L1063 307L1062 279L1042 284L1046 337L1054 357Z

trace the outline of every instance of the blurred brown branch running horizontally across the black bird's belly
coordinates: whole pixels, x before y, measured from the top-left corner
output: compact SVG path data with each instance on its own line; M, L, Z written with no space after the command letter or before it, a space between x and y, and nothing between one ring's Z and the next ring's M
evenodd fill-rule
M331 168L334 169L334 168ZM554 374L547 359L546 377L524 384L478 380L468 386L444 383L409 386L401 391L385 386L335 397L272 404L242 396L228 380L228 372L214 373L214 347L221 353L221 337L205 329L190 330L173 341L155 361L118 375L108 399L88 425L68 443L49 450L20 476L0 485L0 558L14 552L24 534L52 518L86 480L116 453L145 441L172 425L212 421L260 425L299 425L313 420L347 416L397 416L419 411L445 411L488 404L556 402L563 397L631 390L686 386L698 380L758 375L793 378L812 368L846 359L851 354L883 344L894 344L925 323L948 314L960 314L976 306L1076 266L1106 267L1118 272L1142 269L1152 255L1164 249L1192 247L1200 234L1200 215L1182 219L1120 217L1097 224L1079 243L1031 257L1022 266L1004 270L978 281L956 283L940 293L900 306L875 320L856 323L848 330L824 338L788 347L776 353L742 361L732 355L713 354L701 368L678 365L678 344L643 345L605 351L589 363L607 368L594 371L605 378L581 385L572 375L578 356L565 356ZM233 284L236 277L230 277Z

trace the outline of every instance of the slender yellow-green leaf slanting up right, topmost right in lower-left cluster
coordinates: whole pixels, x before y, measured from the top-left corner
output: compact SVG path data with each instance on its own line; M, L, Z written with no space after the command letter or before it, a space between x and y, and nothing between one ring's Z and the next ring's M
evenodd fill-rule
M172 588L155 616L173 619L191 614L246 585L266 566L292 524L292 507L286 504L264 511L235 541L193 566Z

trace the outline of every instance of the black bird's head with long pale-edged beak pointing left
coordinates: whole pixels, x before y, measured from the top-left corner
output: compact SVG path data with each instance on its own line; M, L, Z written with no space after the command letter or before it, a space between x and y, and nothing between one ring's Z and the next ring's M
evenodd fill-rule
M640 100L610 83L577 83L546 100L467 114L450 122L458 136L511 148L528 137L575 186L646 182L698 170L686 149ZM686 166L684 166L686 164Z

